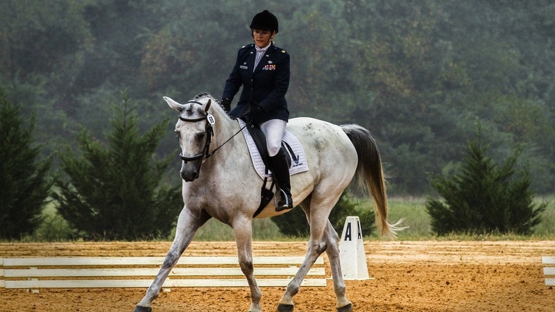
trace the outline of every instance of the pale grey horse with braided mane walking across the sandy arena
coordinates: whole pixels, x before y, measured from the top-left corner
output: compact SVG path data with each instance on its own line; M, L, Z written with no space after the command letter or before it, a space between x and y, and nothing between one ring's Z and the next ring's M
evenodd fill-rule
M239 266L250 288L249 312L261 312L262 292L253 275L251 223L260 203L262 180L255 172L245 139L238 135L241 126L210 94L199 94L185 104L165 96L164 100L179 112L175 132L181 149L180 175L185 206L180 211L176 235L160 271L134 312L152 311L151 304L169 272L197 229L210 218L232 227ZM309 165L308 171L291 177L291 187L293 202L300 203L306 214L310 238L305 260L287 285L277 311L293 311L293 296L323 252L330 262L336 311L352 311L352 303L345 297L341 274L339 236L328 216L343 190L355 178L373 198L377 228L381 234L394 238L403 229L398 227L401 220L393 225L387 222L386 185L379 150L370 132L359 125L339 126L300 117L290 119L287 130L299 139ZM287 211L275 212L273 202L270 202L256 218L284 212Z

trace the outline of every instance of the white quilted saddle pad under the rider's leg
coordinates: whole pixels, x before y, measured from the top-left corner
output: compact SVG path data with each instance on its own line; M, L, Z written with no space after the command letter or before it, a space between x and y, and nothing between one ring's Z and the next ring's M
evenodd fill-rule
M237 121L239 121L239 126L243 128L245 122L241 119L237 119ZM260 155L258 148L256 147L255 140L253 139L253 137L250 136L247 128L243 128L242 132L245 137L245 141L247 142L250 159L253 160L253 166L255 167L256 172L262 180L264 180L265 177L268 177L268 180L271 180L272 173L271 171L268 171L267 174L264 172L266 170L266 165L264 165L264 162L262 161L262 156ZM289 153L289 156L291 156L291 168L289 168L289 174L294 175L296 173L308 171L305 150L302 149L302 145L300 145L300 141L297 139L297 137L295 137L291 132L285 130L283 141L289 144L289 146L291 146L291 150L293 150L293 155L291 155L291 151L289 150L289 148L284 148L284 150Z

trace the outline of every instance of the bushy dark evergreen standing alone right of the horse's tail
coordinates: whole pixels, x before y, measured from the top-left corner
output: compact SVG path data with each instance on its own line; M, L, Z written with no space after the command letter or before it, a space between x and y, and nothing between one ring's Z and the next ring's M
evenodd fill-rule
M547 204L533 204L529 171L514 176L518 153L503 164L495 164L486 156L487 151L479 136L478 141L469 142L456 173L432 180L443 197L426 202L436 234L531 234L540 223L540 213Z

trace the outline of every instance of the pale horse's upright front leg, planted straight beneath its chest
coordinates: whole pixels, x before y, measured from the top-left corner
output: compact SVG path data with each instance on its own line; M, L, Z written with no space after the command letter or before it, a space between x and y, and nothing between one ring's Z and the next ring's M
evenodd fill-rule
M235 220L232 224L235 242L237 243L237 257L239 266L245 275L248 287L250 288L250 309L249 312L261 312L260 298L262 291L258 287L255 279L253 266L253 226L250 218Z

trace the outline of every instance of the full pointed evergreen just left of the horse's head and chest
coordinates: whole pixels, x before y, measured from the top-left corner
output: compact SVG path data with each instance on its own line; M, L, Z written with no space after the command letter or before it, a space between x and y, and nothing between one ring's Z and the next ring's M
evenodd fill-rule
M83 156L69 147L60 153L67 179L56 180L58 211L85 239L166 237L182 208L180 185L162 184L171 158L154 155L168 121L139 135L126 93L114 112L108 146L83 129L78 137Z

